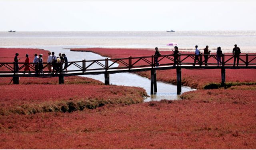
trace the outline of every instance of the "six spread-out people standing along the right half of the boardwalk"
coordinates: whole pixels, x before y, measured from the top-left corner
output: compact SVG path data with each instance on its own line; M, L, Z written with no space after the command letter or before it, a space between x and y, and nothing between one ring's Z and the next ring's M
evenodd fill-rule
M240 54L241 54L241 50L239 47L237 47L237 45L235 44L234 45L235 47L233 48L233 55L234 55L234 65L233 66L238 66L239 64L239 58L240 58ZM195 54L194 54L194 63L192 64L193 66L196 65L196 61L198 61L198 64L200 63L199 61L199 56L200 56L200 50L198 50L198 46L196 45L195 46L196 50L195 50ZM208 66L208 56L210 55L210 50L208 49L209 46L206 45L206 48L204 48L204 64L205 66ZM158 57L161 56L158 48L156 47L155 48L156 52L154 54L155 56L155 64L156 64L156 67L159 66L159 63L158 63ZM176 64L178 64L178 47L175 46L174 47L174 50L173 51L173 56L174 56L174 65L173 66L176 66ZM222 54L222 50L220 47L217 48L217 51L216 51L216 58L217 58L217 66L222 66L222 61L221 61L221 57L223 56Z

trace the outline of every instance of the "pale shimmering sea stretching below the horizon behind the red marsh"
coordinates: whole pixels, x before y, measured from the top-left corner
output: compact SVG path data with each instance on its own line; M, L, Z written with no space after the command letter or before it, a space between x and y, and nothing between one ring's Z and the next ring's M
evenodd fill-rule
M134 31L134 32L0 32L0 46L85 46L101 48L155 48L177 43L180 51L218 46L232 52L234 44L243 53L256 52L256 31ZM214 52L214 51L212 51Z

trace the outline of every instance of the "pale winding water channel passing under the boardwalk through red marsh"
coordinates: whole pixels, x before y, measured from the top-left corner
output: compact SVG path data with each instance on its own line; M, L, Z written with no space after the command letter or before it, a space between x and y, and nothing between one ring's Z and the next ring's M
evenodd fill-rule
M6 46L7 47L7 46ZM98 59L105 59L106 57L102 57L98 54L94 54L92 52L73 52L70 51L69 48L85 48L84 46L8 46L8 48L41 48L44 50L49 50L51 52L55 52L56 56L58 53L65 53L68 61L80 61L80 60L98 60ZM44 60L46 62L46 60ZM96 65L96 64L95 64ZM118 66L118 64L116 64ZM71 65L69 68L75 67ZM156 71L157 72L157 71ZM84 77L93 78L96 80L100 80L104 82L104 74L99 75L83 75ZM113 85L122 85L122 86L136 86L144 88L148 95L150 95L150 80L148 78L144 78L132 73L116 73L110 74L110 84ZM154 95L150 95L150 97L145 98L144 102L149 101L159 101L162 99L166 100L177 100L180 99L179 95L176 94L177 87L176 85L164 83L164 82L157 82L157 90L158 92ZM189 87L182 86L182 93L192 91Z

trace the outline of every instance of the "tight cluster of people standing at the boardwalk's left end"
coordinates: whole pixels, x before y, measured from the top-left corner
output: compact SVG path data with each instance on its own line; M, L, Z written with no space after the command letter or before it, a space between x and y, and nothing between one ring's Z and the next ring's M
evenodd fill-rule
M19 70L19 65L18 65L18 61L20 60L20 58L18 58L19 54L16 53L15 57L14 57L14 62L15 62L15 72L18 72ZM33 66L35 68L35 73L36 74L43 74L44 73L44 64L43 64L43 54L34 54L34 60L33 60ZM63 68L63 64L64 64L64 68ZM24 74L27 72L29 72L29 74L31 74L31 70L30 70L30 60L29 60L29 55L26 54L26 60L25 60L25 67L24 67ZM68 58L66 57L66 54L61 54L59 53L59 56L56 57L54 52L48 52L48 59L47 59L47 68L49 71L49 74L52 73L54 74L58 74L58 72L66 70L68 71Z

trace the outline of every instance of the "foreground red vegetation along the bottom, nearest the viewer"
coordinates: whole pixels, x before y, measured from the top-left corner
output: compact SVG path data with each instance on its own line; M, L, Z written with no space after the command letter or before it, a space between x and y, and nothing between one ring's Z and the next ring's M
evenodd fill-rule
M197 90L186 100L0 116L0 148L255 149L255 94Z

